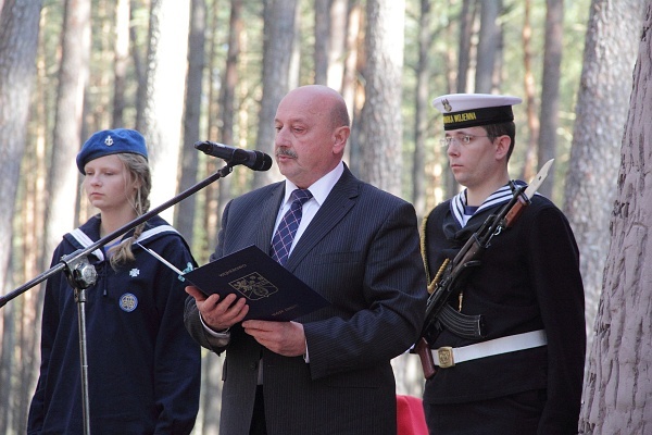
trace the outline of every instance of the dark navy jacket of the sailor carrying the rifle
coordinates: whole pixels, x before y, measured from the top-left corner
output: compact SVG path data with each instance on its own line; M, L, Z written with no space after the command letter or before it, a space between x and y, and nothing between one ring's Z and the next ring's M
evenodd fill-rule
M437 206L425 227L430 276L503 203L479 210L464 227L451 200ZM586 349L584 287L575 237L561 210L536 195L516 223L493 237L462 288L462 312L485 318L484 340L544 330L548 345L440 369L426 383L424 401L464 403L543 389L548 398L538 433L576 433ZM457 308L456 298L452 304ZM444 330L431 347L473 343Z

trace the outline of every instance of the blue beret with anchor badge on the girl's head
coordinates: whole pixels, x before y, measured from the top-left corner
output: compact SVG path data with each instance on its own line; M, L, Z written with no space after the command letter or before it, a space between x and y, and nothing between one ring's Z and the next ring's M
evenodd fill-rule
M84 166L91 160L109 154L131 152L147 159L145 138L135 129L115 128L95 133L77 154L77 167L86 175Z

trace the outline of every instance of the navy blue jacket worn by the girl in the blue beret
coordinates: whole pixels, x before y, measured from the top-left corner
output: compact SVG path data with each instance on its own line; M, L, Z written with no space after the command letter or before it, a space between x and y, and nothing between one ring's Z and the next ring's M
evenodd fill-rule
M99 239L100 219L66 234L52 257ZM179 270L196 263L183 237L154 216L139 243ZM184 328L186 294L167 266L133 247L136 261L115 272L103 252L87 289L89 415L92 434L188 434L199 408L200 348ZM82 434L78 307L63 273L46 287L41 368L28 434Z

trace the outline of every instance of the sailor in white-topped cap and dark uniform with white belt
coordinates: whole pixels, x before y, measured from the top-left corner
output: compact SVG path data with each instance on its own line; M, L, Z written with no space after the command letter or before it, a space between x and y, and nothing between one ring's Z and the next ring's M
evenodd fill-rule
M519 102L481 94L432 101L451 171L465 189L426 216L429 281L525 185L507 172L512 105ZM447 326L432 334L437 370L423 400L432 433L577 433L586 348L579 253L563 213L540 195L529 200L449 301L456 312L479 315L481 334L461 336Z

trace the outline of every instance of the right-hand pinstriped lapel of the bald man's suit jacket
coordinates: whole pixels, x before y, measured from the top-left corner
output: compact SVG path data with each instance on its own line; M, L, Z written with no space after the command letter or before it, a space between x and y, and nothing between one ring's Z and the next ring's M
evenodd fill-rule
M289 271L293 271L308 252L349 213L355 204L359 189L360 182L344 166L342 176L292 249L286 263Z

